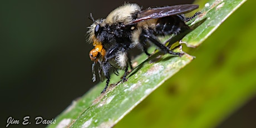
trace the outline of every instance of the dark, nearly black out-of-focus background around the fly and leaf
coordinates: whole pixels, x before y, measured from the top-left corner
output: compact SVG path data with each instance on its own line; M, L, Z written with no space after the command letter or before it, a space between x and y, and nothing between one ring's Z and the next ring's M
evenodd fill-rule
M129 1L143 8L193 1ZM86 42L91 21L124 1L2 1L0 38L1 127L8 117L51 120L93 87ZM250 102L240 110L256 106ZM236 112L239 115L239 112ZM248 111L249 112L249 111ZM234 115L233 118L236 118ZM231 122L232 118L227 122ZM224 122L225 126L227 122ZM32 126L29 125L29 126ZM26 127L29 127L26 126ZM45 127L46 125L37 125ZM227 125L226 125L227 126ZM22 127L12 125L9 127ZM24 127L24 126L23 126Z

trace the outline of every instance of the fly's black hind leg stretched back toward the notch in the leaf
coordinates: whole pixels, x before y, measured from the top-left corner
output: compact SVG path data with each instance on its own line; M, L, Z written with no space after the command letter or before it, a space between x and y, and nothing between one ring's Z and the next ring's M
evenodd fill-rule
M154 43L157 47L160 48L161 51L163 51L164 53L169 53L171 55L183 55L184 53L180 53L180 52L173 52L170 51L168 47L164 46L163 44L161 44L159 41L157 41L154 37L154 35L146 35L146 34L142 34L142 36L148 38L152 43Z

